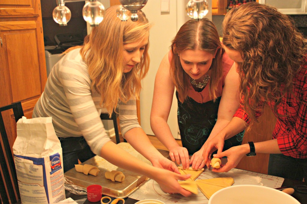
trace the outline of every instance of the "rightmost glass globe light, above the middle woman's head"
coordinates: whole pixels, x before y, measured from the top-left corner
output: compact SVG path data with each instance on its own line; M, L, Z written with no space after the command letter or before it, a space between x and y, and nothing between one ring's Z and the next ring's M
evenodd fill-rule
M185 7L190 18L202 19L208 13L208 2L206 0L190 0Z

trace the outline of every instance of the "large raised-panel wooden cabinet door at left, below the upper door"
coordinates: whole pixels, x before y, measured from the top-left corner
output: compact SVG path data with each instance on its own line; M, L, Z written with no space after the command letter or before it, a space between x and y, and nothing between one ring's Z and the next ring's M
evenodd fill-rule
M28 116L32 115L34 104L43 92L47 78L41 29L40 21L0 22L3 61L1 74L5 79L7 101L21 101Z

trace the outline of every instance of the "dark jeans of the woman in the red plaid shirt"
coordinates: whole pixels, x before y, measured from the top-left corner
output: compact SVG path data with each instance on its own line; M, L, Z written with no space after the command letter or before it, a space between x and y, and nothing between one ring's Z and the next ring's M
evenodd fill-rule
M297 159L284 154L270 154L268 174L287 179L307 181L307 159Z

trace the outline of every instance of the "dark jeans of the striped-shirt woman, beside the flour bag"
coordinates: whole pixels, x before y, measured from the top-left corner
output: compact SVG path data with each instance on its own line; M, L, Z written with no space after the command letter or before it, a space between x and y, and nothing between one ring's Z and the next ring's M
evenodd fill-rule
M96 156L86 143L84 137L59 138L63 152L64 173L75 168L78 159L81 162Z

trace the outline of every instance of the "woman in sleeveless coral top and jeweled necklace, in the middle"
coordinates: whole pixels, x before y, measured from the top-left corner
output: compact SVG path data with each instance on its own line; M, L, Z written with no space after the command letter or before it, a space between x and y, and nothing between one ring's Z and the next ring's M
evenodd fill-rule
M167 124L176 87L179 146ZM239 74L208 19L181 26L156 74L150 124L169 156L184 168L203 168L203 145L225 127L239 107ZM240 145L243 133L225 142ZM192 156L189 161L189 155Z

